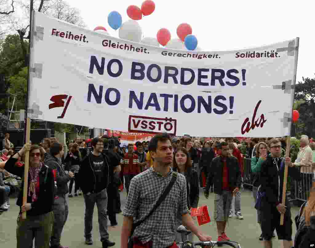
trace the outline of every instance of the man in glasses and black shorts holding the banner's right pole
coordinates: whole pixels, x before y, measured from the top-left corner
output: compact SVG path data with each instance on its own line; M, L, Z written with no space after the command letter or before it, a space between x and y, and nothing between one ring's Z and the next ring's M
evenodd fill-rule
M295 180L300 180L298 168L290 158L281 158L281 142L273 138L269 142L271 155L261 164L258 198L255 208L261 211L261 230L264 238L264 247L272 247L272 234L277 231L278 239L283 240L283 247L290 248L292 241L292 220L288 198L282 202L284 182L284 168L288 165L288 175ZM260 204L259 204L260 203ZM284 224L280 226L280 216L284 214Z

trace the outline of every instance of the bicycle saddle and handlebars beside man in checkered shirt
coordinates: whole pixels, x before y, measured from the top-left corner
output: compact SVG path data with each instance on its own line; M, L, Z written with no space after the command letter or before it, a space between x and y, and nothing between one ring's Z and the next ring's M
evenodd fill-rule
M180 225L177 230L178 233L181 234L182 240L186 240L184 242L177 242L176 245L178 248L196 248L197 246L201 247L215 247L215 246L222 246L222 245L229 245L233 248L241 248L241 245L235 241L198 241L198 242L190 242L188 240L188 234L191 234L192 231L187 230L185 226ZM186 237L185 237L186 236Z

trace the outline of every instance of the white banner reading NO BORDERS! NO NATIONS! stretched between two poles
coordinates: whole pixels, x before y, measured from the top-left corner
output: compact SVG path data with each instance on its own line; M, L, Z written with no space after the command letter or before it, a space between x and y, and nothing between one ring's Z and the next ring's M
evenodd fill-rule
M298 39L238 51L173 50L38 12L31 38L31 118L202 137L289 134Z

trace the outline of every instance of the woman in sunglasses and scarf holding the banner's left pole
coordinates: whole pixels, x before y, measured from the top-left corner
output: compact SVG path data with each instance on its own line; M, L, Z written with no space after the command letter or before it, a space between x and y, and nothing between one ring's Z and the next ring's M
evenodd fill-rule
M23 184L16 204L20 206L17 219L16 239L17 248L32 247L35 238L35 248L49 248L52 233L54 214L54 174L52 169L41 161L43 153L38 145L24 145L20 151L1 163L0 168L24 178L24 166L15 166L19 157L29 150L29 172L27 185L27 203L23 205ZM26 212L26 219L22 213Z

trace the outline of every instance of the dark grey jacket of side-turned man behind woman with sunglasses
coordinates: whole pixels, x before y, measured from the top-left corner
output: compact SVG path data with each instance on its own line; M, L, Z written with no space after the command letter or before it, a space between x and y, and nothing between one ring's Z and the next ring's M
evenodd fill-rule
M56 170L57 195L65 195L69 193L68 182L70 181L71 177L63 170L60 161L55 156L52 156L46 152L44 164L50 169Z

